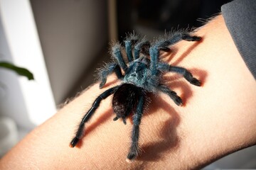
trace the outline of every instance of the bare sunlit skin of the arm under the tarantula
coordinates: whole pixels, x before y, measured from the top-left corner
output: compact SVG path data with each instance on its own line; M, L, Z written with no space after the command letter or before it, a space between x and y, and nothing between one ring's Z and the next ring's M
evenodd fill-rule
M203 82L188 84L168 74L168 86L183 98L176 106L161 94L151 96L142 118L141 156L128 164L132 122L113 122L111 97L102 101L78 147L75 130L103 89L95 84L38 126L0 161L0 169L198 169L215 159L256 144L256 82L218 16L195 35L201 42L179 42L164 60L190 70ZM175 78L175 79L174 79Z

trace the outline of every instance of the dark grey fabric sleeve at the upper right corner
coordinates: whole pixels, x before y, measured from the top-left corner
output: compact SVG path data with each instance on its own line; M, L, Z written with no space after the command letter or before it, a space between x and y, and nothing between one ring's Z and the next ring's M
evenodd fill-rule
M256 79L256 1L235 0L221 6L225 24Z

